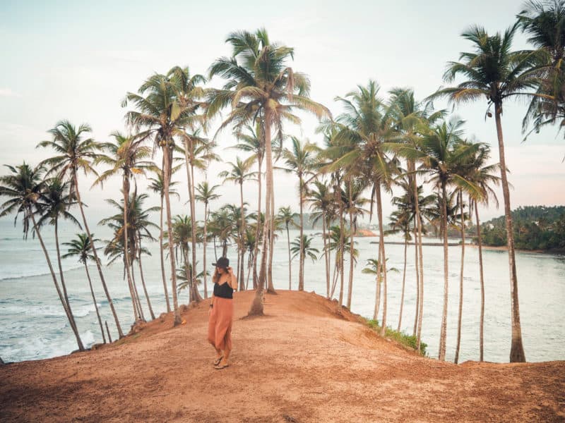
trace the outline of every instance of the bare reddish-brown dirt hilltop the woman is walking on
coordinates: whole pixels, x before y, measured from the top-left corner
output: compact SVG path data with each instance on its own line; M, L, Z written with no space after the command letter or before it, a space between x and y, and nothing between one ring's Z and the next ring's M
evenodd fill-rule
M314 293L266 295L213 368L208 301L85 353L0 366L2 422L557 422L565 362L460 365L378 336Z

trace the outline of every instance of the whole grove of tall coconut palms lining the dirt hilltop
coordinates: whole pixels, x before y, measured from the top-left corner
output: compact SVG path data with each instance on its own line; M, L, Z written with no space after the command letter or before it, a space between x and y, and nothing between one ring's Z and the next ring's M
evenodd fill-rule
M424 255L422 236L424 223L434 223L444 245L444 302L440 328L439 359L446 355L448 306L448 228L458 227L463 237L461 245L460 295L456 362L460 347L460 328L463 301L463 261L465 228L475 214L480 252L481 322L480 360L483 360L484 277L480 221L477 204L496 201L493 187L500 184L504 195L506 230L508 233L509 267L512 305L511 362L525 361L521 341L518 310L518 284L514 258L509 182L504 160L504 139L501 116L503 104L511 97L528 96L530 106L524 119L524 129L539 130L543 125L565 122L564 82L561 66L565 52L565 1L529 1L518 15L516 24L504 34L489 35L481 27L471 27L463 34L473 51L460 55L460 61L448 63L446 82L463 77L456 86L443 87L424 101L417 101L408 88L396 88L384 94L374 80L357 85L355 90L336 102L343 112L335 118L329 109L309 97L307 75L289 66L294 50L270 42L266 30L233 32L226 42L232 55L212 63L208 78L225 80L221 88L206 87L203 75L191 75L189 68L175 66L165 74L151 75L138 92L129 92L123 101L127 108L127 134L112 133L112 142L95 142L88 125L76 128L61 121L49 130L51 139L40 142L54 156L38 166L28 164L8 166L10 174L1 177L0 195L9 200L1 205L0 216L16 212L23 214L25 236L30 229L40 240L52 274L61 305L83 349L68 299L64 272L61 269L58 222L66 219L83 228L71 243L66 255L76 256L85 264L93 262L100 276L105 296L112 309L119 336L123 331L112 303L98 255L97 243L88 226L81 202L79 174L94 173L95 185L102 185L112 176L121 176L120 202L110 200L117 214L102 219L100 224L112 228L114 236L104 249L110 262L119 259L124 265L124 279L130 290L133 319L145 319L143 302L135 281L134 263L141 276L147 309L155 317L150 296L143 278L144 247L157 240L150 230L159 231L160 264L167 312L174 312L174 324L181 323L179 289L186 288L189 301L200 301L198 284L203 281L203 294L208 296L206 271L207 244L214 245L215 257L227 254L228 247L237 251L239 288L256 290L249 314L263 314L263 291L275 293L273 284L273 252L276 233L286 231L289 289L292 288L292 259L299 261L297 288L304 290L304 264L307 257L323 257L326 276L326 296L333 298L338 290L339 305L351 306L353 271L358 252L355 249L357 221L364 214L376 212L379 227L379 247L368 262L366 273L376 279L374 318L381 317L381 331L387 325L386 233L398 232L405 240L405 264L408 241L415 243L417 301L413 334L418 349L422 333L424 301ZM517 30L530 35L535 49L513 51L513 35ZM490 149L483 142L465 138L463 122L449 117L445 110L435 110L432 103L438 97L451 102L468 102L486 97L487 116L494 106L496 135L499 140L499 163L489 162ZM216 116L227 109L218 130L210 132ZM319 118L317 133L323 145L287 135L287 123L299 124L296 111L308 112ZM237 140L233 148L249 157L237 157L227 163L220 173L226 183L239 190L239 204L225 204L210 210L210 202L218 200L218 185L210 185L206 169L218 161L215 153L218 133L230 128ZM285 142L290 141L290 148ZM160 158L153 161L155 153ZM276 166L280 164L280 166ZM107 166L98 173L97 166ZM173 215L171 197L178 196L172 180L175 173L186 171L186 190L189 213ZM200 171L196 174L195 169ZM276 169L297 177L299 212L281 207L275 212L273 173ZM499 176L496 176L496 173ZM197 179L201 176L202 180ZM147 195L138 194L137 178L146 178L151 191L160 195L160 207L143 209ZM248 209L244 184L258 184L256 210ZM424 183L425 185L424 187ZM132 188L133 185L133 188ZM177 186L176 189L179 189ZM424 188L432 192L424 195ZM400 192L392 198L396 211L390 217L386 231L383 199L393 190ZM249 191L246 191L249 192ZM264 197L262 197L264 193ZM367 198L365 197L367 195ZM249 199L248 199L249 200ZM196 219L196 202L203 205L203 219ZM69 212L78 205L81 222ZM312 247L313 238L304 234L304 206L309 206L313 223L321 223L323 250ZM148 219L151 212L160 211L160 224ZM54 226L57 243L59 276L43 243L44 223ZM299 229L299 236L290 240L290 227ZM199 248L199 245L202 245ZM202 266L197 260L201 250ZM292 255L292 256L291 256ZM347 286L345 260L349 259ZM168 266L165 260L169 260ZM395 269L396 270L396 269ZM167 281L167 273L170 281ZM90 286L90 274L88 274ZM179 283L179 281L181 281ZM338 288L339 287L339 288ZM346 289L347 288L347 289ZM398 329L403 314L405 291L403 277L402 299ZM169 290L172 305L169 303ZM93 293L94 291L91 288ZM344 295L347 292L347 298ZM382 308L381 308L382 300ZM104 337L102 321L100 330ZM108 332L109 336L109 332ZM105 338L104 338L105 339Z

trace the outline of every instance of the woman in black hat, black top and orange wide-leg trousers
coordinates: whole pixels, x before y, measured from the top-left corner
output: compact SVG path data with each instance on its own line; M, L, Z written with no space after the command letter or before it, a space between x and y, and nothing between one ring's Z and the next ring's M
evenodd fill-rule
M237 290L237 278L226 257L220 257L212 265L216 270L212 276L214 293L208 312L208 342L216 350L214 368L220 370L230 365L227 359L232 351L233 293Z

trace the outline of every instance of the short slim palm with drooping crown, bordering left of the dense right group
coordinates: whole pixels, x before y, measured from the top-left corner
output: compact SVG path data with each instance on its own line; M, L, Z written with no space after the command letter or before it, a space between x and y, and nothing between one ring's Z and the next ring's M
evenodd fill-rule
M333 198L328 183L321 182L320 180L313 181L314 188L308 191L307 202L310 203L312 225L321 220L322 221L322 238L323 238L323 259L326 264L326 297L330 297L330 255L326 251L327 228L333 219L335 213L333 209ZM326 254L327 252L327 254Z

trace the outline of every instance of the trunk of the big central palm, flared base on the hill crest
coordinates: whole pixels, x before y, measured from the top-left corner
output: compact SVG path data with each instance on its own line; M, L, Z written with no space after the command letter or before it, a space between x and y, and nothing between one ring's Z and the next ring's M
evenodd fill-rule
M265 286L267 276L267 245L268 232L270 229L270 195L271 184L273 179L273 153L270 145L270 111L265 111L265 158L267 162L266 170L266 192L265 192L265 224L263 225L263 251L261 254L261 268L259 269L258 285L255 298L249 309L249 316L263 315L263 287Z

